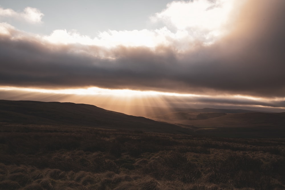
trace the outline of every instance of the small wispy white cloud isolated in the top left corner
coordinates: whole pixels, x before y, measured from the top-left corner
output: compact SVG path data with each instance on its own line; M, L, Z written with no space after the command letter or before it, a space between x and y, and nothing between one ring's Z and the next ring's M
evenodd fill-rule
M44 16L40 10L33 7L26 7L23 12L16 12L13 9L3 9L0 7L1 17L12 17L19 20L25 20L31 24L42 23L42 17Z

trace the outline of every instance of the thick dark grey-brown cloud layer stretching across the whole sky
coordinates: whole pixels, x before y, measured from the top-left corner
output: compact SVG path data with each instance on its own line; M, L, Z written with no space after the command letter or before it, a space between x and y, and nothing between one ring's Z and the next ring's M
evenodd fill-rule
M284 10L285 1L248 1L237 10L229 35L184 53L172 47L52 45L0 35L0 85L284 97ZM96 56L101 53L115 59Z

